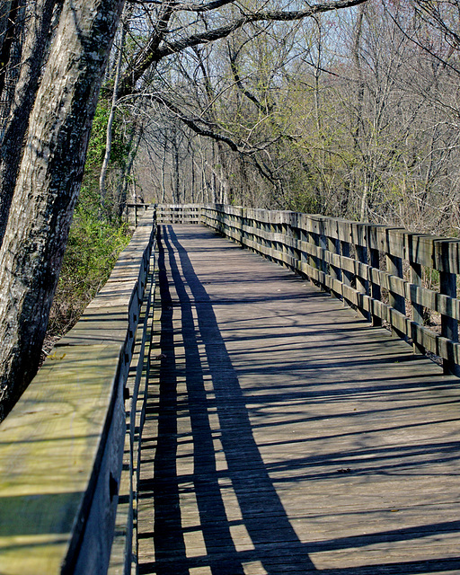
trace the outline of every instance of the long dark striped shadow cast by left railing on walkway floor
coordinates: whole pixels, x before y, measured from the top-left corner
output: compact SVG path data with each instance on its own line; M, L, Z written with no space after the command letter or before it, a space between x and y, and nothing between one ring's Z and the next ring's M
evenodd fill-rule
M276 542L289 542L290 566L297 572L314 571L305 545L298 540L291 526L279 496L270 481L270 476L261 459L259 449L252 437L251 423L245 407L243 394L234 372L226 346L220 335L216 316L208 294L199 282L187 253L178 243L173 230L164 236L168 252L174 288L181 302L181 323L184 333L183 345L186 358L188 409L193 436L194 474L192 482L197 497L200 528L208 555L206 558L187 559L181 532L181 511L176 505L178 498L178 477L175 469L177 404L172 380L173 342L166 341L173 332L171 296L167 279L160 278L162 289L162 351L167 356L162 364L159 404L158 447L155 456L153 492L155 517L166 517L168 525L161 519L155 522L155 565L141 566L141 572L155 572L158 575L181 574L193 566L208 564L213 575L243 575L242 561L259 560L270 575L282 572L279 565L279 550ZM161 248L163 250L163 247ZM179 256L180 261L176 260ZM164 253L160 252L160 269L164 269ZM185 288L180 273L191 291L192 300ZM192 307L196 309L198 330L193 329ZM215 392L215 407L220 427L220 440L226 454L228 471L226 476L233 485L243 515L243 524L251 537L253 551L240 556L235 548L226 517L217 471L213 429L208 415L208 398L204 383L203 366L199 357L199 341L204 344L208 370ZM168 335L169 334L169 335ZM169 403L169 406L168 406ZM162 424L164 421L164 425ZM167 420L167 422L166 422ZM168 427L169 426L169 429ZM169 433L169 438L165 437ZM166 506L169 511L164 509ZM169 506L169 507L168 507ZM261 513L254 513L254 509ZM171 512L175 509L175 512ZM277 516L276 524L268 523L263 509ZM164 535L167 532L168 535ZM174 547L175 550L174 550ZM209 552L218 553L209 553ZM155 569L155 571L151 571Z

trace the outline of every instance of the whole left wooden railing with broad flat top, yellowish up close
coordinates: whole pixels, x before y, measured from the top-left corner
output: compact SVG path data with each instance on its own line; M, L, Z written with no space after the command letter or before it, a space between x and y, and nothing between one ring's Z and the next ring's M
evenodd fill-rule
M2 575L129 573L136 561L154 224L149 208L107 284L0 426Z

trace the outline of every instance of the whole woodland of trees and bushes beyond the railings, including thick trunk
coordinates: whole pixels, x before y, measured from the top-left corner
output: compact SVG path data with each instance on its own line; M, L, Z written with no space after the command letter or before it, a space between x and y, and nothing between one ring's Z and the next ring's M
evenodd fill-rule
M459 49L458 0L4 0L0 420L129 202L457 236Z

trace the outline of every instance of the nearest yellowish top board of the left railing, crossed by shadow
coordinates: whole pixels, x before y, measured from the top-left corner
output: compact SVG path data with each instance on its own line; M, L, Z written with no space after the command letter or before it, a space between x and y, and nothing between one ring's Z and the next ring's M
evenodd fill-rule
M72 565L89 510L85 494L93 490L95 462L102 462L120 351L116 343L56 350L2 423L4 575L60 573Z

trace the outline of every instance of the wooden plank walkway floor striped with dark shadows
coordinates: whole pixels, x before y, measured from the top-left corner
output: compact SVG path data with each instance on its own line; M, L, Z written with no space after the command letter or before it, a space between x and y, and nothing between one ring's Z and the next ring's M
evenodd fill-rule
M460 381L207 228L162 234L139 572L460 573Z

